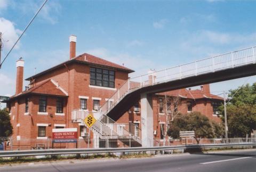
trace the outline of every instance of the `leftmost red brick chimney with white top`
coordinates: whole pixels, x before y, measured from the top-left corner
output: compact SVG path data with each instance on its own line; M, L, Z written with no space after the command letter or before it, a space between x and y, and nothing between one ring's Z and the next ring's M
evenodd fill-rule
M22 58L17 60L16 67L17 67L17 76L16 76L16 91L15 91L15 95L21 93L22 92L22 88L23 88L24 60L22 60Z

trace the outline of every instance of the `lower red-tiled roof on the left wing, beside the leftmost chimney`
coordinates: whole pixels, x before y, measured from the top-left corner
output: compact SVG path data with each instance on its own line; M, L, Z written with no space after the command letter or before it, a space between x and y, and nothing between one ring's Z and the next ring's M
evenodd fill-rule
M55 82L53 79L48 79L41 84L35 85L32 88L29 88L27 91L24 91L18 95L11 96L9 100L3 101L3 102L9 102L10 100L13 100L28 94L68 96L68 93L62 87L60 87L57 82Z

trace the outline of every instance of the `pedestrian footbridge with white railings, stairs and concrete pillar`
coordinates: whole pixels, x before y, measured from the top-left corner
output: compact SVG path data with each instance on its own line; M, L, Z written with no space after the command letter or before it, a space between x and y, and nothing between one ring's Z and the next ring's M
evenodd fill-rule
M113 124L111 124L112 126L108 125L108 128L113 130L111 131L113 133L117 132L116 135L120 137L122 135L132 136L142 146L153 146L153 109L151 99L153 93L256 75L255 53L256 47L250 47L129 78L102 105L99 110L99 119L111 119ZM139 99L141 102L141 134L135 135L132 133L133 129L128 128L126 133L118 133L117 130L114 130L114 126L120 124L115 121L132 107L134 102L131 100ZM79 111L81 110L73 111L73 120L82 120L84 118L76 115ZM100 125L106 124L104 120L99 120L99 122L101 122ZM98 128L97 125L94 124L93 127ZM123 124L123 126L126 125L129 124ZM106 130L109 130L108 128ZM137 129L134 128L135 130ZM104 134L100 133L100 135L103 137Z

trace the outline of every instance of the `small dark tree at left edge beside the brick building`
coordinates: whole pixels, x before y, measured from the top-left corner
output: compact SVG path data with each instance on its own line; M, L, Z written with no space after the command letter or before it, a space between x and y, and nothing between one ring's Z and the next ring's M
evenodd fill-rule
M6 109L0 110L0 137L12 135L12 125L9 113Z

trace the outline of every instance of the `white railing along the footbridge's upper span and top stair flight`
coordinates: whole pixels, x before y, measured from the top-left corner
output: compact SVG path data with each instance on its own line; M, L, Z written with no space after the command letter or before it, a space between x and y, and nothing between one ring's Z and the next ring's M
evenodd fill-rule
M253 64L256 62L255 53L256 47L250 47L130 78L102 105L100 111L107 114L123 97L141 87Z

